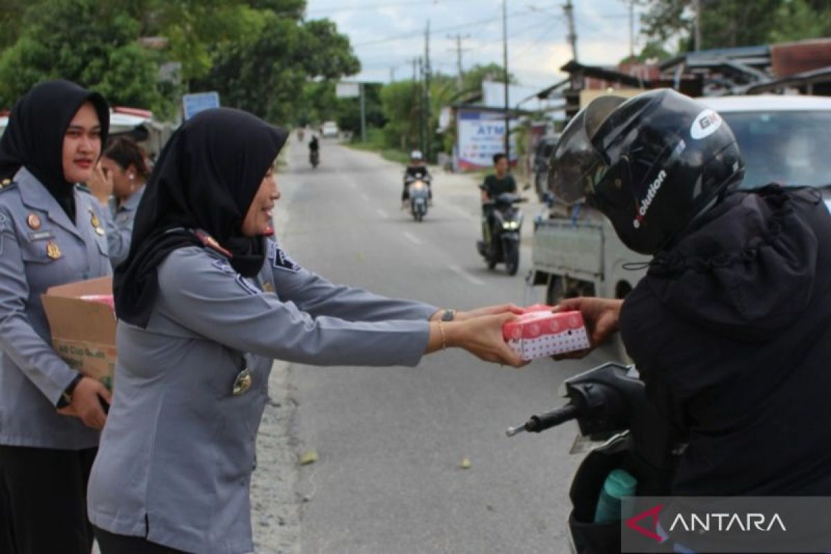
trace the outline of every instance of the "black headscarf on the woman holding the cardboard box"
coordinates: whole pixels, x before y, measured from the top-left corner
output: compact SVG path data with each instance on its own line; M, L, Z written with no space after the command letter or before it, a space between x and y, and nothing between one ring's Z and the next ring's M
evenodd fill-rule
M72 185L63 174L63 139L81 105L90 101L101 124L101 145L110 130L110 107L97 92L70 81L45 81L17 101L0 139L0 179L11 179L21 166L61 204L75 221Z

